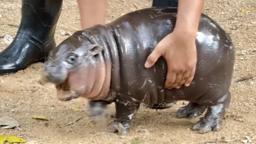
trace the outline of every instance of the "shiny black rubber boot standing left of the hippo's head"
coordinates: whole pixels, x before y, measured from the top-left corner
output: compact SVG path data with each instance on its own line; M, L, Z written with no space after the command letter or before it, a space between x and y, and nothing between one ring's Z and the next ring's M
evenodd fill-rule
M54 32L63 0L22 0L21 22L13 42L0 53L0 74L43 61L56 46Z

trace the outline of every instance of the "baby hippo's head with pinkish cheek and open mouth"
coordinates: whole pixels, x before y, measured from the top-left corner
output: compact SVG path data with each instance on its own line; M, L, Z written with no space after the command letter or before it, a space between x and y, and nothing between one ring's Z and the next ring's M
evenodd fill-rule
M55 84L61 101L77 97L93 99L108 86L102 46L92 44L81 33L74 33L51 50L42 70L42 83Z

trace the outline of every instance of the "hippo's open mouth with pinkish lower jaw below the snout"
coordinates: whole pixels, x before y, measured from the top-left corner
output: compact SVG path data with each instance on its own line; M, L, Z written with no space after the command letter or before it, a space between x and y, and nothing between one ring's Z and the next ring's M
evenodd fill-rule
M61 84L56 84L56 90L57 98L61 101L70 101L79 97L77 92L70 90L70 86L67 81Z

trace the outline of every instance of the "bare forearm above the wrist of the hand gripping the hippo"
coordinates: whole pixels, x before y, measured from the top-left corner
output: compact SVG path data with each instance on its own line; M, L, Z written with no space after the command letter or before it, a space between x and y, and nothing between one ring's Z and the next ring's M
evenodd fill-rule
M174 31L196 37L204 0L179 0Z

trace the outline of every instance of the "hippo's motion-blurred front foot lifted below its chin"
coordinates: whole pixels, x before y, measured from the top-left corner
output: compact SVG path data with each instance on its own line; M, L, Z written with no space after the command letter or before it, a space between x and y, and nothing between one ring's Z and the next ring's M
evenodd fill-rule
M111 117L111 113L107 108L107 104L110 103L104 100L90 100L88 115L98 124L107 124Z

